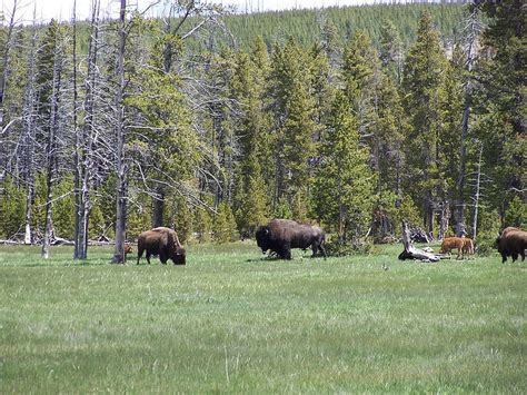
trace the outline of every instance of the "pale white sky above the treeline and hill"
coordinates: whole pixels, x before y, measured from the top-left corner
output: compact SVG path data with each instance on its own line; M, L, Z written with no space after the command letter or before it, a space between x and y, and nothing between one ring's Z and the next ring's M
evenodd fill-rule
M17 18L18 22L28 23L32 20L33 8L37 8L37 20L41 22L49 21L51 18L58 20L69 20L72 16L73 0L1 0L2 11L10 16L13 2L18 2ZM145 10L156 0L127 0L131 7ZM162 10L162 3L167 0L160 0L159 6L150 11L148 16L156 16ZM223 6L236 6L240 12L264 11L264 10L286 10L301 8L324 8L332 6L357 6L374 3L375 0L201 0L201 3L221 3ZM377 1L379 2L379 1ZM77 19L87 19L90 13L91 0L77 0ZM113 17L117 17L119 0L101 0L101 10L105 10Z

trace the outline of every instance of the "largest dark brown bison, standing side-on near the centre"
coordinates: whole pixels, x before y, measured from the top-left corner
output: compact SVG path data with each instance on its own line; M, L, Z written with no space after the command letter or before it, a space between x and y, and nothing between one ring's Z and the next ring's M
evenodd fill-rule
M260 226L256 231L256 241L264 254L271 250L281 259L291 259L291 248L309 247L314 257L320 251L326 258L325 231L318 226L299 224L291 219L272 219Z

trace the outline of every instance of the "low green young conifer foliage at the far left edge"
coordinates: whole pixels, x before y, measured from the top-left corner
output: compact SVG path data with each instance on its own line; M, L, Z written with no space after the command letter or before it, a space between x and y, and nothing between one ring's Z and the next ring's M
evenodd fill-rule
M11 177L0 184L0 238L9 238L24 231L26 194Z

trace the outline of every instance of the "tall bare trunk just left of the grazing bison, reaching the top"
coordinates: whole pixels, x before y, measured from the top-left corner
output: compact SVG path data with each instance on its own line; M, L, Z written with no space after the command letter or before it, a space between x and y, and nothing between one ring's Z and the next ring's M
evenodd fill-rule
M116 249L113 253L113 263L125 264L125 233L127 224L127 171L125 162L125 16L127 1L121 0L119 12L119 50L117 55L117 78L118 87L116 92L116 111L117 111L117 213L116 213Z

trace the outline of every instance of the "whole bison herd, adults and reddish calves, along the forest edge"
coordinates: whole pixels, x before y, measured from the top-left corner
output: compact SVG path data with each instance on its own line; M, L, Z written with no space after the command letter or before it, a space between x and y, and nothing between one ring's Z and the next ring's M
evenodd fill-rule
M306 250L311 248L312 257L318 255L326 258L326 233L318 226L297 223L291 219L272 219L267 225L258 227L256 230L257 246L262 254L276 255L280 259L291 259L291 249L300 248ZM525 260L525 249L527 248L527 231L519 228L505 228L496 240L496 247L501 255L503 263L507 257L513 257L516 261L518 256ZM146 253L147 261L150 264L152 255L159 256L162 264L171 259L175 265L185 265L187 254L179 241L175 230L165 227L153 228L143 231L138 237L137 264ZM447 254L457 249L457 258L465 258L466 255L474 254L474 241L468 237L447 237L443 240L440 254ZM125 253L131 253L131 246L125 246Z

